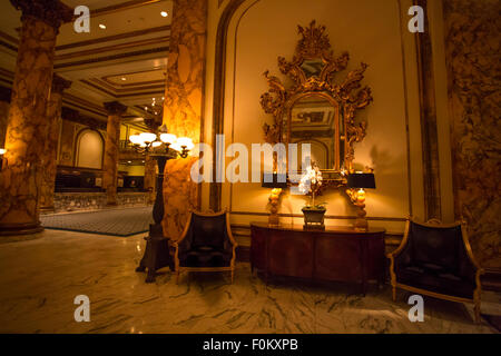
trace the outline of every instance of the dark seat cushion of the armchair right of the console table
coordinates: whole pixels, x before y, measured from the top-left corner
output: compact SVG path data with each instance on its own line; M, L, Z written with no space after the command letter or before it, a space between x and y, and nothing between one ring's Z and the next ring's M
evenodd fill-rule
M428 264L426 264L428 265ZM396 281L449 296L472 299L475 285L440 266L407 265L396 269Z

